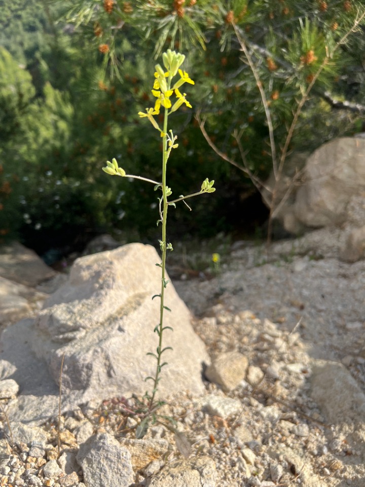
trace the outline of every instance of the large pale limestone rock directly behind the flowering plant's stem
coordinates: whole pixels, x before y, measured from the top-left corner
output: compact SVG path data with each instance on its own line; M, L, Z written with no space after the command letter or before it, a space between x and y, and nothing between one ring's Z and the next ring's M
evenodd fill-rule
M63 355L65 401L74 397L74 403L80 404L94 398L144 394L148 388L144 379L154 375L156 365L146 354L155 353L158 345L153 330L159 323L160 301L152 296L160 293L160 268L155 265L159 262L156 250L140 243L77 259L68 281L46 300L39 317L11 326L2 335L5 353L0 376L11 375L18 382L18 401L22 401L22 390L33 394L30 384L35 379L29 370L36 368L37 360L39 375L46 364L45 393L53 394L49 376L56 386ZM168 365L162 370L160 395L181 390L199 394L204 390L202 363L208 362L208 355L193 331L188 308L171 283L165 305L172 311L165 312L164 324L174 331L165 330L163 344L173 351L163 355ZM42 384L42 378L36 378Z

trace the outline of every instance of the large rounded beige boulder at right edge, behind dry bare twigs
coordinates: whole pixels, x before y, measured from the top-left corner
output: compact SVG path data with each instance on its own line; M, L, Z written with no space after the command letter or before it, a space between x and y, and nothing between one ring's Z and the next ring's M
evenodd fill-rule
M343 224L362 226L365 213L364 156L364 138L341 137L323 144L307 157L305 163L305 154L289 158L276 184L276 203L286 197L276 218L287 231L296 234L308 228ZM298 171L303 171L300 179L297 178ZM273 188L274 184L275 178L271 175L265 186ZM266 190L263 199L270 199Z

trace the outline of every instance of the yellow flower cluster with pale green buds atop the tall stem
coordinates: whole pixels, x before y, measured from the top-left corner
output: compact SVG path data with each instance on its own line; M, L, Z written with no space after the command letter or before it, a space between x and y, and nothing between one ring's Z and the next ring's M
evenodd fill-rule
M161 106L164 107L165 110L171 109L169 113L175 112L183 103L185 103L187 107L192 108L189 101L186 99L186 93L181 93L179 88L184 83L190 83L192 85L195 84L194 81L190 79L186 71L179 69L180 65L185 59L183 54L178 54L175 51L168 49L167 52L163 53L162 58L167 71L164 71L160 64L155 66L155 81L153 90L151 90L152 94L157 98L155 106L154 108L146 108L145 112L138 112L138 115L141 118L147 117L152 125L160 131L161 129L154 119L154 115L158 115L160 113ZM177 73L180 75L180 79L171 86L172 78ZM170 97L173 94L175 94L177 99L172 105Z

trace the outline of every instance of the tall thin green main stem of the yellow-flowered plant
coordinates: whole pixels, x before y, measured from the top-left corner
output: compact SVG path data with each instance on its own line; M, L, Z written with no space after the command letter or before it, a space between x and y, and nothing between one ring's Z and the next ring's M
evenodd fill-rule
M164 117L164 128L163 132L167 133L167 119L168 111L165 109ZM157 386L159 382L159 375L161 371L161 351L162 351L162 335L163 335L163 316L164 316L164 296L165 296L165 275L166 275L166 223L167 223L167 195L166 195L166 168L167 168L167 135L162 138L162 263L161 263L161 299L160 299L160 324L159 324L159 346L157 349L157 366L154 379L154 388L152 392L152 397L149 404L149 410L151 411L154 407L154 400L157 392Z

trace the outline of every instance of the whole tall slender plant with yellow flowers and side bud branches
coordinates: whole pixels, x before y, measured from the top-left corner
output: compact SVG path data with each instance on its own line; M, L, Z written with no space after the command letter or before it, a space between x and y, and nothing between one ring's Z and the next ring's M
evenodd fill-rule
M152 352L148 353L148 355L154 357L154 359L156 360L156 372L154 377L149 376L145 379L151 380L153 382L153 389L151 394L146 393L144 396L144 399L147 400L148 412L145 417L145 423L141 429L148 426L148 416L152 413L152 411L156 410L156 407L158 407L159 403L155 402L155 397L158 390L160 373L162 367L167 365L166 362L162 362L162 354L166 350L171 350L170 346L166 346L164 348L162 346L164 330L172 330L171 327L163 325L164 312L171 311L167 306L164 305L165 289L168 284L168 281L166 280L166 253L167 251L173 250L171 243L166 242L167 211L169 206L175 206L175 204L179 201L185 202L186 199L193 196L204 193L212 193L213 191L215 191L215 188L213 187L214 181L209 181L208 179L205 179L201 184L199 191L189 194L187 196L180 195L178 198L168 199L171 196L172 191L171 188L169 188L166 184L167 161L170 157L172 149L176 149L178 147L178 144L176 144L176 135L173 134L172 130L168 129L168 118L171 113L178 110L182 105L185 105L188 108L192 108L190 102L186 98L187 94L181 93L179 88L181 88L181 86L185 83L194 85L194 81L189 77L186 71L182 71L182 69L180 69L181 64L185 60L184 54L176 53L175 51L171 51L170 49L168 49L167 52L163 53L162 59L166 71L160 64L157 64L155 66L155 80L153 84L153 89L151 90L153 96L156 97L155 105L154 107L146 108L145 112L138 112L139 117L147 118L151 122L153 127L160 132L160 136L162 137L162 182L153 181L142 176L126 174L125 170L119 167L118 162L115 158L112 160L112 162L107 161L106 166L102 168L103 171L105 171L109 175L140 179L142 181L154 184L155 190L162 191L162 196L159 198L160 218L157 222L157 225L159 225L159 223L162 223L162 237L161 240L159 240L161 249L161 263L156 264L161 267L161 291L159 294L153 296L153 298L160 298L160 322L154 330L159 337L159 344L156 354ZM175 77L177 77L177 80L174 81ZM162 128L159 126L157 120L154 118L156 115L160 114L160 110L164 110ZM189 209L191 210L190 207Z

